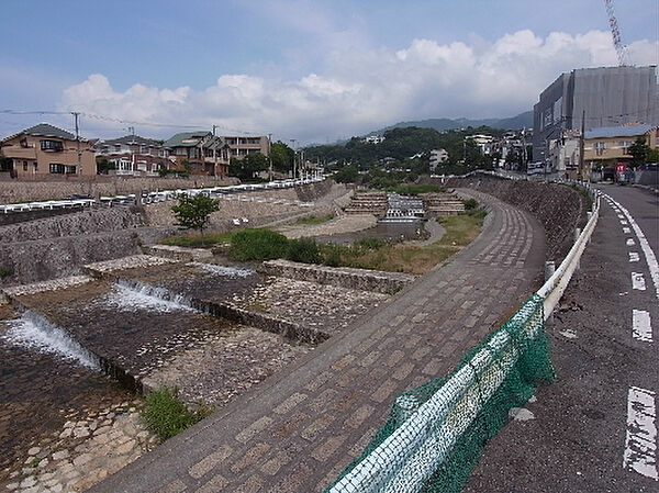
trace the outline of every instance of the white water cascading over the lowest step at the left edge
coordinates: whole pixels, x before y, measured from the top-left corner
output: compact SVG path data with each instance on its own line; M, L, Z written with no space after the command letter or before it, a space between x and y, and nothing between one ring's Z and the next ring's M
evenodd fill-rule
M80 346L64 328L37 313L27 310L21 318L7 321L5 324L9 329L0 338L10 345L57 355L92 370L100 370L94 355Z

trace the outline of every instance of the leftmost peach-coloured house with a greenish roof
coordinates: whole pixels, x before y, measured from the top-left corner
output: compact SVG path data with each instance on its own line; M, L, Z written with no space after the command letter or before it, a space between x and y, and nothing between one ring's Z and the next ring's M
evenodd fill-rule
M48 123L25 128L0 141L3 171L13 178L86 177L97 173L93 143Z

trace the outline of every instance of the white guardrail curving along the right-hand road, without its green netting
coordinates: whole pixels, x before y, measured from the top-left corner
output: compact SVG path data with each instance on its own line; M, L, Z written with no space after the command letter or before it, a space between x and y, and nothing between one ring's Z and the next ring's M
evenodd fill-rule
M600 213L600 192L587 187L593 200L588 224L556 272L537 291L543 299L539 312L537 296L528 301L509 321L522 324L525 336L533 338L537 327L558 304L579 265ZM494 356L496 360L494 361ZM337 481L330 493L411 493L423 489L442 466L451 448L496 392L520 357L518 349L505 330L496 333L470 361L416 411L384 441ZM403 400L401 402L401 399ZM405 408L405 399L396 400ZM413 405L411 407L414 407Z

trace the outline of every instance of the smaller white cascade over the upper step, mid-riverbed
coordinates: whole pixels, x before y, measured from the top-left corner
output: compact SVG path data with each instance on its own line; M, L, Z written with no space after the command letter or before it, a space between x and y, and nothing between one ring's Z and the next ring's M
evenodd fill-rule
M124 312L147 310L160 313L192 312L189 299L172 293L165 288L145 284L139 281L119 279L105 303Z

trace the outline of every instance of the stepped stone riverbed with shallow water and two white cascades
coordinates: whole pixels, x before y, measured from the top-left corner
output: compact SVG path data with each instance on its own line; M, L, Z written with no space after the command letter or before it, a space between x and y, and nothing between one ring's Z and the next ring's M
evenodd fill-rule
M390 298L138 257L0 306L1 491L83 491L157 446L145 391L219 408Z

